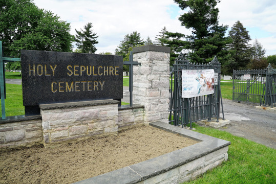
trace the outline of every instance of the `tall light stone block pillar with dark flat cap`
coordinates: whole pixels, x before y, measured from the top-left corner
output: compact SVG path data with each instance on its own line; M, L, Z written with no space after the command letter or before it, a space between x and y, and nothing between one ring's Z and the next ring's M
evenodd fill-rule
M168 47L145 45L133 48L133 102L144 105L144 123L168 123L169 53Z

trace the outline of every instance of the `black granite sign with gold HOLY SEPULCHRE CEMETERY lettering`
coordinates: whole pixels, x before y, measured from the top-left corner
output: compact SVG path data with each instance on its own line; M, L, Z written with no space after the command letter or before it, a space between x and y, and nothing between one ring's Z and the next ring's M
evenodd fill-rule
M121 56L22 50L21 62L25 107L122 99Z

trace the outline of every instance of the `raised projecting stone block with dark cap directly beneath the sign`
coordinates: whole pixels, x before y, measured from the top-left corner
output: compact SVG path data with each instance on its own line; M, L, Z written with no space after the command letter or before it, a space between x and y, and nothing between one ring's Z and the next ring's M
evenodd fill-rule
M118 131L118 101L39 105L45 146Z

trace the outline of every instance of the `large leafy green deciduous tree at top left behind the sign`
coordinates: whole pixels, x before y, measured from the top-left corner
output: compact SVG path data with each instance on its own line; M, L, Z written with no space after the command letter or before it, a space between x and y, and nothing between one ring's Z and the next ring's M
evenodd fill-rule
M0 1L0 40L6 56L20 57L20 50L72 51L70 24L31 0ZM19 62L8 62L17 70Z

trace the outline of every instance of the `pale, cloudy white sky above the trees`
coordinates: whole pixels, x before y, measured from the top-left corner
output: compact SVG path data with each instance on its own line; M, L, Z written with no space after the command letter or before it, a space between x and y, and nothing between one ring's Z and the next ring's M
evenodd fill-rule
M99 43L96 54L114 53L126 34L134 31L146 40L155 36L164 26L169 32L189 34L180 26L182 11L173 0L34 0L37 7L52 11L61 20L70 22L71 34L92 22ZM275 0L221 0L219 24L228 30L240 20L254 39L266 49L266 55L276 54ZM227 32L228 34L228 32Z

